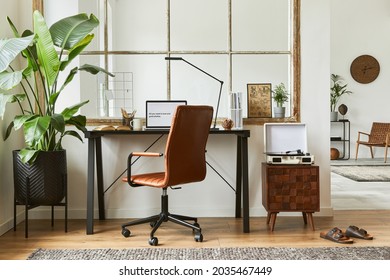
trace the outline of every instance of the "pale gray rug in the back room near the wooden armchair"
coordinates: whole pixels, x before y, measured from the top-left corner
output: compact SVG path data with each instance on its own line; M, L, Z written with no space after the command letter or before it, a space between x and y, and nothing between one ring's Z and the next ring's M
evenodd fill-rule
M340 165L331 166L331 171L357 182L390 182L388 165Z

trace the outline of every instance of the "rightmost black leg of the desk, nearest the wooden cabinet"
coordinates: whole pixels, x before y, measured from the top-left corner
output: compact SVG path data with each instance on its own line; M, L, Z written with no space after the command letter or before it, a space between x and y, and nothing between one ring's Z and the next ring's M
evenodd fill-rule
M243 217L244 217L244 232L249 232L249 181L248 181L248 138L242 137L242 204L243 204Z

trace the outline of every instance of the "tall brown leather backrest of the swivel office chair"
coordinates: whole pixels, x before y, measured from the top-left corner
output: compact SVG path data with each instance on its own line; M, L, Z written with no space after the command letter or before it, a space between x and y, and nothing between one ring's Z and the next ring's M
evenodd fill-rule
M167 186L206 177L206 144L213 118L211 106L178 106L165 148Z

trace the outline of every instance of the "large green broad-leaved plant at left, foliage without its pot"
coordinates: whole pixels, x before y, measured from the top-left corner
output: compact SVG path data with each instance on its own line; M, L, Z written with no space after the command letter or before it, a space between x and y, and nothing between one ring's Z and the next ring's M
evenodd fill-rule
M33 31L26 30L23 34L7 20L15 37L0 40L0 116L4 117L7 103L19 106L21 113L9 124L4 139L13 128L23 128L26 147L20 156L23 162L31 163L39 151L61 150L64 136L82 141L78 131L85 130L86 117L76 114L88 101L56 112L59 95L78 71L112 74L88 64L68 70L72 60L94 38L90 33L99 20L93 14L67 17L48 28L43 16L35 11ZM11 65L18 59L24 63L20 70ZM65 76L60 78L61 74ZM67 125L78 131L66 129Z

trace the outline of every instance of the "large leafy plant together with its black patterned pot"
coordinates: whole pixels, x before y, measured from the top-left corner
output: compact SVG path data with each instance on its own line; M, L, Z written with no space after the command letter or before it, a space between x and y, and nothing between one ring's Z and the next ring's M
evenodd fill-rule
M33 31L23 34L7 20L15 37L0 40L0 117L8 103L16 104L20 114L14 116L4 139L13 129L23 129L25 140L23 149L13 151L15 201L53 206L66 193L67 164L62 139L73 136L82 141L78 131L85 130L86 117L77 112L88 102L57 112L58 97L78 71L111 75L93 65L68 70L72 60L94 38L90 32L99 20L92 14L78 14L48 28L43 16L35 11ZM15 60L23 60L24 65L18 67L22 69L11 65Z

